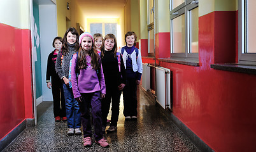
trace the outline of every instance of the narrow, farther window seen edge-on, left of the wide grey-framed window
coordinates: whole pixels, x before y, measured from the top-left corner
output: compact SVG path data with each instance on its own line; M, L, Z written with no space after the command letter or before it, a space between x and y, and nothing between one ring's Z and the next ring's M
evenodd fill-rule
M154 31L154 7L153 0L148 0L148 53L154 53L154 40L155 40L155 31Z

